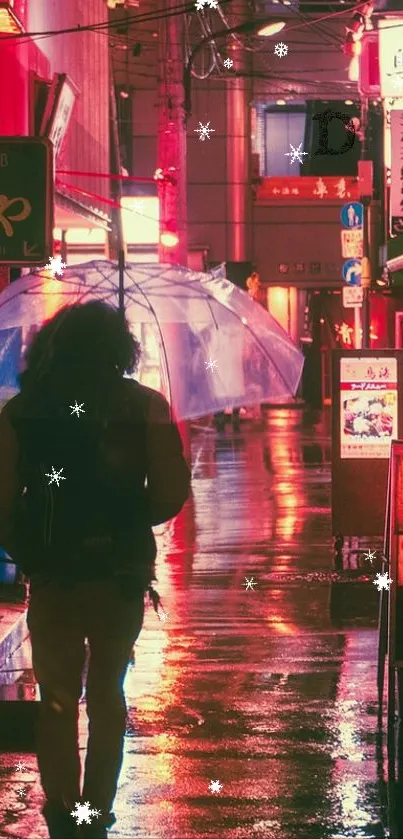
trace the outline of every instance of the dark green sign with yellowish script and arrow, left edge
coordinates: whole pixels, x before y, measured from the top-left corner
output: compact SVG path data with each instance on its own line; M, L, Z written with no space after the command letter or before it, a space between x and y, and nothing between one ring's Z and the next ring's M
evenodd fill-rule
M52 252L52 144L0 137L0 265L45 265Z

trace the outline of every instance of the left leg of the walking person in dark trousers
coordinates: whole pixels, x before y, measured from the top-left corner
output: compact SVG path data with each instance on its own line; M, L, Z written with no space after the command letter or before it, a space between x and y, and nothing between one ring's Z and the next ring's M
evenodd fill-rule
M47 802L72 809L80 800L78 703L84 665L75 590L31 583L27 622L41 695L37 758L42 787Z

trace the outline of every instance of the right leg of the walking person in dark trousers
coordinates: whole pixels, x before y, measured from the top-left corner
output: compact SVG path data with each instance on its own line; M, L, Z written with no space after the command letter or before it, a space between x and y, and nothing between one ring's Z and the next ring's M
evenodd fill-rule
M144 591L135 588L130 598L130 581L121 586L116 580L99 581L91 588L88 598L89 739L82 799L101 811L102 817L96 824L110 825L114 820L111 811L126 729L123 682L133 644L143 625Z

